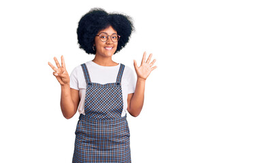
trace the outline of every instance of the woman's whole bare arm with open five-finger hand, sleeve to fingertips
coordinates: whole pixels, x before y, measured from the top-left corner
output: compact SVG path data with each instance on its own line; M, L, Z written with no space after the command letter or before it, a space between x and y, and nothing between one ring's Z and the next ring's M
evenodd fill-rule
M137 62L133 60L134 68L137 73L137 82L136 82L134 94L128 94L128 98L127 98L127 103L128 103L127 111L133 117L137 117L138 115L140 115L140 111L142 111L142 107L144 103L146 78L151 73L151 71L157 68L156 66L152 67L156 60L153 60L153 62L149 63L151 57L152 57L152 54L150 54L148 56L148 59L146 60L146 52L144 52L143 58L142 58L142 64L140 65L140 67L138 67Z

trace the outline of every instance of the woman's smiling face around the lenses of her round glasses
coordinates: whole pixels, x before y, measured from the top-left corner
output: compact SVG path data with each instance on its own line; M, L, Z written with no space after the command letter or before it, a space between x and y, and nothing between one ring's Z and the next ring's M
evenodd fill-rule
M112 28L112 26L109 26L108 28L99 31L97 35L100 35L101 33L108 33L108 35L112 35L113 33L116 33L116 31ZM113 56L114 52L116 52L117 43L118 42L113 42L110 39L110 36L108 37L108 41L106 42L101 41L100 37L96 36L95 37L96 55L100 55L103 57Z

